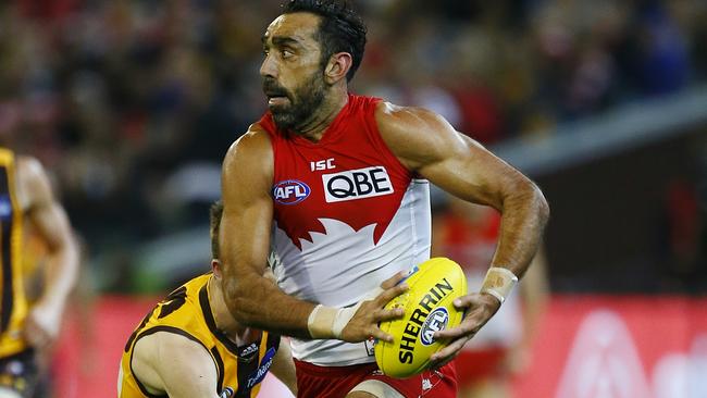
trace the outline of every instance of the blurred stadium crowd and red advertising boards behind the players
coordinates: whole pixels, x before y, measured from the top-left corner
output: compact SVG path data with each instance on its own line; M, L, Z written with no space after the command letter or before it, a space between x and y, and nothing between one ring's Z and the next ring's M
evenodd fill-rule
M44 162L86 254L54 397L113 396L129 331L208 270L207 209L264 109L278 3L0 4L0 135ZM352 90L442 113L551 204L553 299L518 396L704 396L707 3L355 3Z

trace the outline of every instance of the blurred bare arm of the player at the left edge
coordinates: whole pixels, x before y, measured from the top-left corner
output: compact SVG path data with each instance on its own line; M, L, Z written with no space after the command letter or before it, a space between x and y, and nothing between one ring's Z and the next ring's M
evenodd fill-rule
M20 158L17 181L25 213L49 249L45 288L24 329L29 344L42 349L59 336L61 316L78 276L78 248L41 164L33 158Z

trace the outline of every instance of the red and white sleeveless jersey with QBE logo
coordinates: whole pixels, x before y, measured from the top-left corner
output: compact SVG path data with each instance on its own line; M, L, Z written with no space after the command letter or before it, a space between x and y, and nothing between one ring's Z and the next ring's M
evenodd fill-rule
M301 300L348 307L430 258L429 183L390 152L374 117L379 99L349 95L319 142L259 122L274 152L271 266ZM370 343L293 339L318 365L373 362Z

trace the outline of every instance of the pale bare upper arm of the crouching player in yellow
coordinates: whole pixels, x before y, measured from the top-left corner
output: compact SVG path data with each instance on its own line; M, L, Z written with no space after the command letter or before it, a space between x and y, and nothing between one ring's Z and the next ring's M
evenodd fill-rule
M174 333L140 338L134 348L135 377L154 395L171 398L218 398L219 374L206 348Z

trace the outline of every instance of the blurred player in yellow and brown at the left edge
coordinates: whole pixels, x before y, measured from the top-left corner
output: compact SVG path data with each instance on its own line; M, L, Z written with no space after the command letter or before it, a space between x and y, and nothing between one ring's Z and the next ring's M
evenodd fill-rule
M78 270L78 249L66 213L34 158L0 147L0 398L32 397L38 357L59 337L62 314ZM23 274L24 231L47 247L44 284L28 302Z

